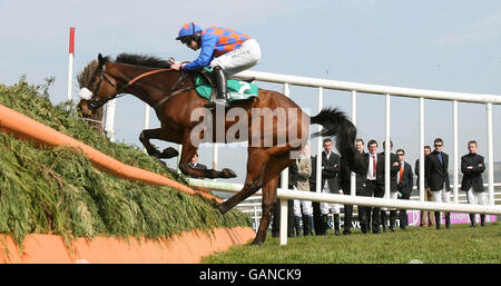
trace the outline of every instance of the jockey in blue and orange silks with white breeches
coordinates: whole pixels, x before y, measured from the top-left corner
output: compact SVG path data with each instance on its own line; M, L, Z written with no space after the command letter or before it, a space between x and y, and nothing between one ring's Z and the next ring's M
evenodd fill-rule
M217 82L216 102L227 107L226 77L232 77L249 69L261 60L261 48L249 36L220 27L202 29L194 22L185 23L179 29L180 40L193 50L202 48L198 58L188 63L173 63L175 70L196 70L210 67ZM216 102L209 101L207 108L214 108Z

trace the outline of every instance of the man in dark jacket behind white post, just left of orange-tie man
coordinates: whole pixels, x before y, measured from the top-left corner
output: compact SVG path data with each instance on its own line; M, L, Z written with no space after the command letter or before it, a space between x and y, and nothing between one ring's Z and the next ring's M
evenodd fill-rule
M386 142L383 142L383 149L386 150ZM397 199L397 188L396 188L396 172L400 169L399 158L395 154L391 152L393 149L393 142L390 140L390 198ZM383 189L383 196L385 191L385 152L384 150L381 152L381 164L377 165L377 184L380 184ZM381 224L383 225L383 231L386 231L387 228L387 215L386 208L381 209ZM390 230L392 233L395 231L396 225L396 208L390 208Z

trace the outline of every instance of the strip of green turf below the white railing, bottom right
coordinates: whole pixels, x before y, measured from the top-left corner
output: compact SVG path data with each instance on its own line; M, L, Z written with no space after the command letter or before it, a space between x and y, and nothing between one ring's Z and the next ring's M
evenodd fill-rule
M268 236L263 246L236 246L206 257L206 264L500 264L501 223L485 227L453 225L449 229L407 227L406 230L350 236L288 238L281 246Z

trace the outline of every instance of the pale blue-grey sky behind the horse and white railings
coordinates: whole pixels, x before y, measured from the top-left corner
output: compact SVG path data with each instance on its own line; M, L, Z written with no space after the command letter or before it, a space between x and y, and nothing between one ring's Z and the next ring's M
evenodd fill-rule
M254 68L257 71L501 95L500 1L0 0L0 82L12 85L26 73L29 82L41 83L53 76L53 103L67 96L70 27L76 27L78 72L99 52L193 60L198 52L174 40L187 21L228 27L256 38L263 51ZM259 86L282 90L279 85ZM73 87L76 98L76 80ZM292 98L311 110L317 110L316 95L316 89L292 88ZM325 106L350 114L350 102L348 92L325 91ZM118 100L117 108L117 140L140 145L143 103L127 96ZM500 150L501 107L494 106L493 111L494 150ZM460 155L468 151L470 139L477 139L479 151L485 155L484 106L460 103L459 114ZM418 100L393 98L391 116L395 148L404 148L413 165L419 156ZM452 103L426 100L425 116L425 144L442 137L444 150L452 155ZM358 134L365 141L384 139L384 97L358 95ZM151 115L150 127L158 125ZM219 167L234 168L239 175L236 181L242 181L245 148L226 147L219 155ZM494 159L501 160L501 152ZM200 149L200 160L212 164L210 148Z

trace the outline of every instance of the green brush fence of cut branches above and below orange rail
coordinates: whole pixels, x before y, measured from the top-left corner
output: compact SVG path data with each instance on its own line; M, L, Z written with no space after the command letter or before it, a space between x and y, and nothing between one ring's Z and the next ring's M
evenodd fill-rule
M48 85L31 86L23 78L12 87L0 85L0 103L125 164L177 179L139 148L111 142L90 128L70 102L52 106ZM233 209L223 216L215 206L200 196L101 172L79 150L37 148L0 132L0 234L21 247L28 234L61 235L67 243L95 236L160 239L250 225L248 215Z

